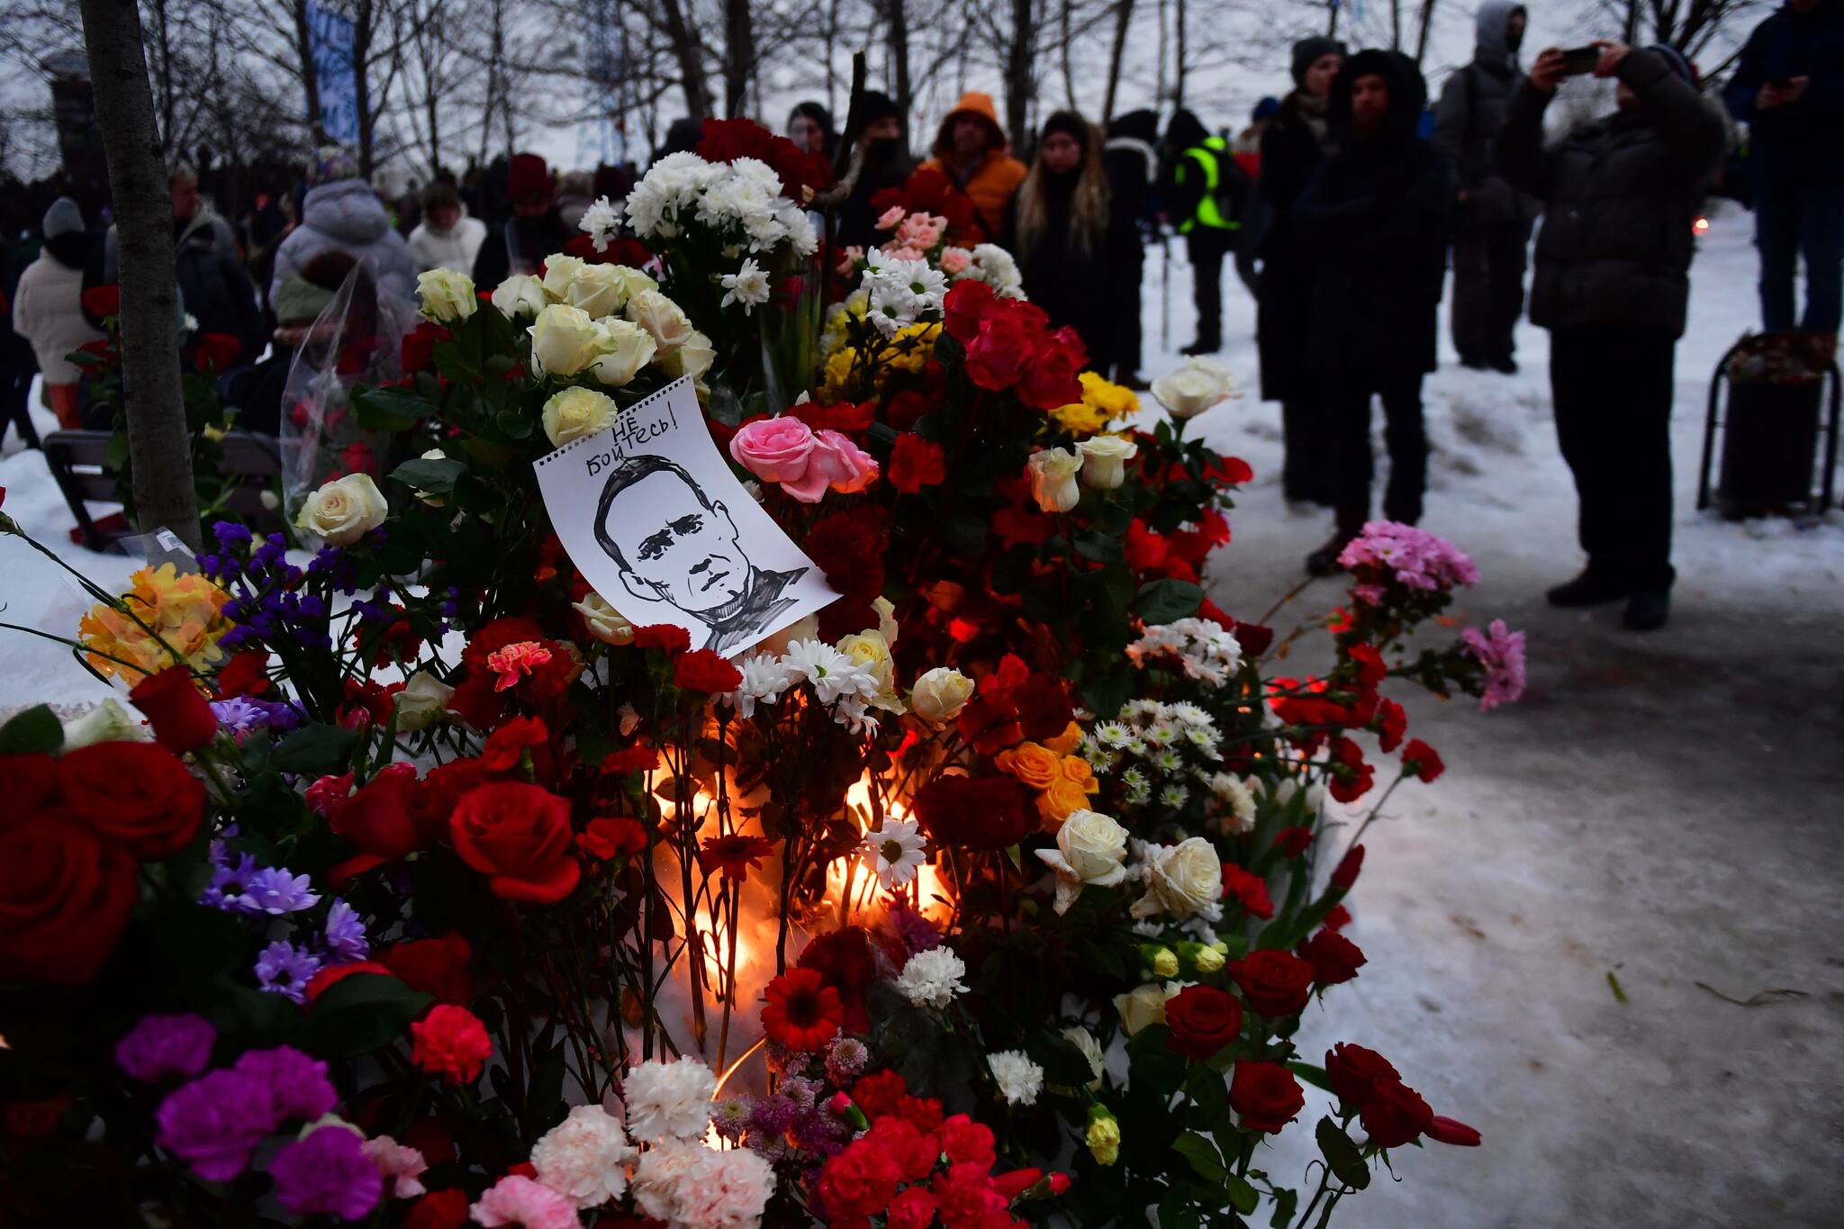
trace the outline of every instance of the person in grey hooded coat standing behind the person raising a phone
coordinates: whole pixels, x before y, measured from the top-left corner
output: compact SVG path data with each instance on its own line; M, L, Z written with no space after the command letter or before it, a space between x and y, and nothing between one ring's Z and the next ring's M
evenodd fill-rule
M1518 48L1525 9L1486 0L1473 17L1473 61L1448 77L1435 111L1435 147L1457 171L1453 214L1453 348L1473 370L1518 370L1512 328L1523 311L1525 251L1536 201L1494 166L1505 109L1523 83Z

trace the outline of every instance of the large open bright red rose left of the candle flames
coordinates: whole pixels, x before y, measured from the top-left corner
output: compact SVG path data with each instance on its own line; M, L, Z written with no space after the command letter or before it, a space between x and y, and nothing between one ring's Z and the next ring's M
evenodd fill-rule
M570 803L537 785L474 787L448 818L448 831L461 860L513 901L561 901L583 875L572 857Z

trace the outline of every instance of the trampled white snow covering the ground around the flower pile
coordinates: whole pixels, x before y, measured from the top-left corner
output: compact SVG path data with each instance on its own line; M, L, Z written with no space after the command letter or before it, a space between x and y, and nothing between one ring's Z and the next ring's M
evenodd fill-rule
M1580 564L1547 335L1521 328L1516 378L1457 369L1442 339L1446 367L1427 383L1425 525L1484 573L1457 614L1527 628L1531 693L1488 715L1411 696L1411 730L1449 770L1398 790L1366 838L1350 934L1370 964L1307 1015L1306 1045L1383 1052L1436 1113L1486 1142L1403 1150L1403 1181L1377 1179L1341 1223L1837 1223L1844 525L1732 525L1693 510L1709 369L1755 315L1750 238L1746 214L1719 214L1693 269L1673 424L1680 580L1673 625L1652 636L1621 632L1617 606L1542 601ZM1176 367L1191 337L1176 249L1160 354L1162 263L1152 251L1149 374ZM1224 298L1223 357L1254 389L1254 308L1234 280ZM1298 582L1330 518L1280 497L1276 405L1250 392L1191 429L1256 470L1213 575L1213 597L1254 617ZM68 544L39 453L0 461L0 486L6 510L59 555L101 582L125 580L129 560ZM1335 597L1318 582L1274 621L1285 632ZM0 619L65 636L85 608L17 540L0 542ZM0 636L0 709L107 693L57 645ZM1802 997L1733 1006L1695 982L1743 1001ZM1258 1165L1298 1185L1315 1155L1306 1128Z

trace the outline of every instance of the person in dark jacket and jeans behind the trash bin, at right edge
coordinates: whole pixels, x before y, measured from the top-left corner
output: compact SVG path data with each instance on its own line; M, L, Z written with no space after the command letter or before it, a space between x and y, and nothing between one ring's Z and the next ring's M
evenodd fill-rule
M1787 0L1748 35L1722 101L1748 123L1761 324L1794 328L1792 267L1803 254L1798 328L1829 363L1844 311L1844 4Z

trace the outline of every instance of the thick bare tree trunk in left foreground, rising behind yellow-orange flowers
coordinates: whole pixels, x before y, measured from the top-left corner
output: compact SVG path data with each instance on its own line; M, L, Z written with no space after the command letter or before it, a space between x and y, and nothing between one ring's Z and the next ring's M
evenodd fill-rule
M179 385L173 210L153 129L140 9L135 0L81 0L81 6L122 256L122 381L135 507L144 533L164 525L199 549L192 442Z

